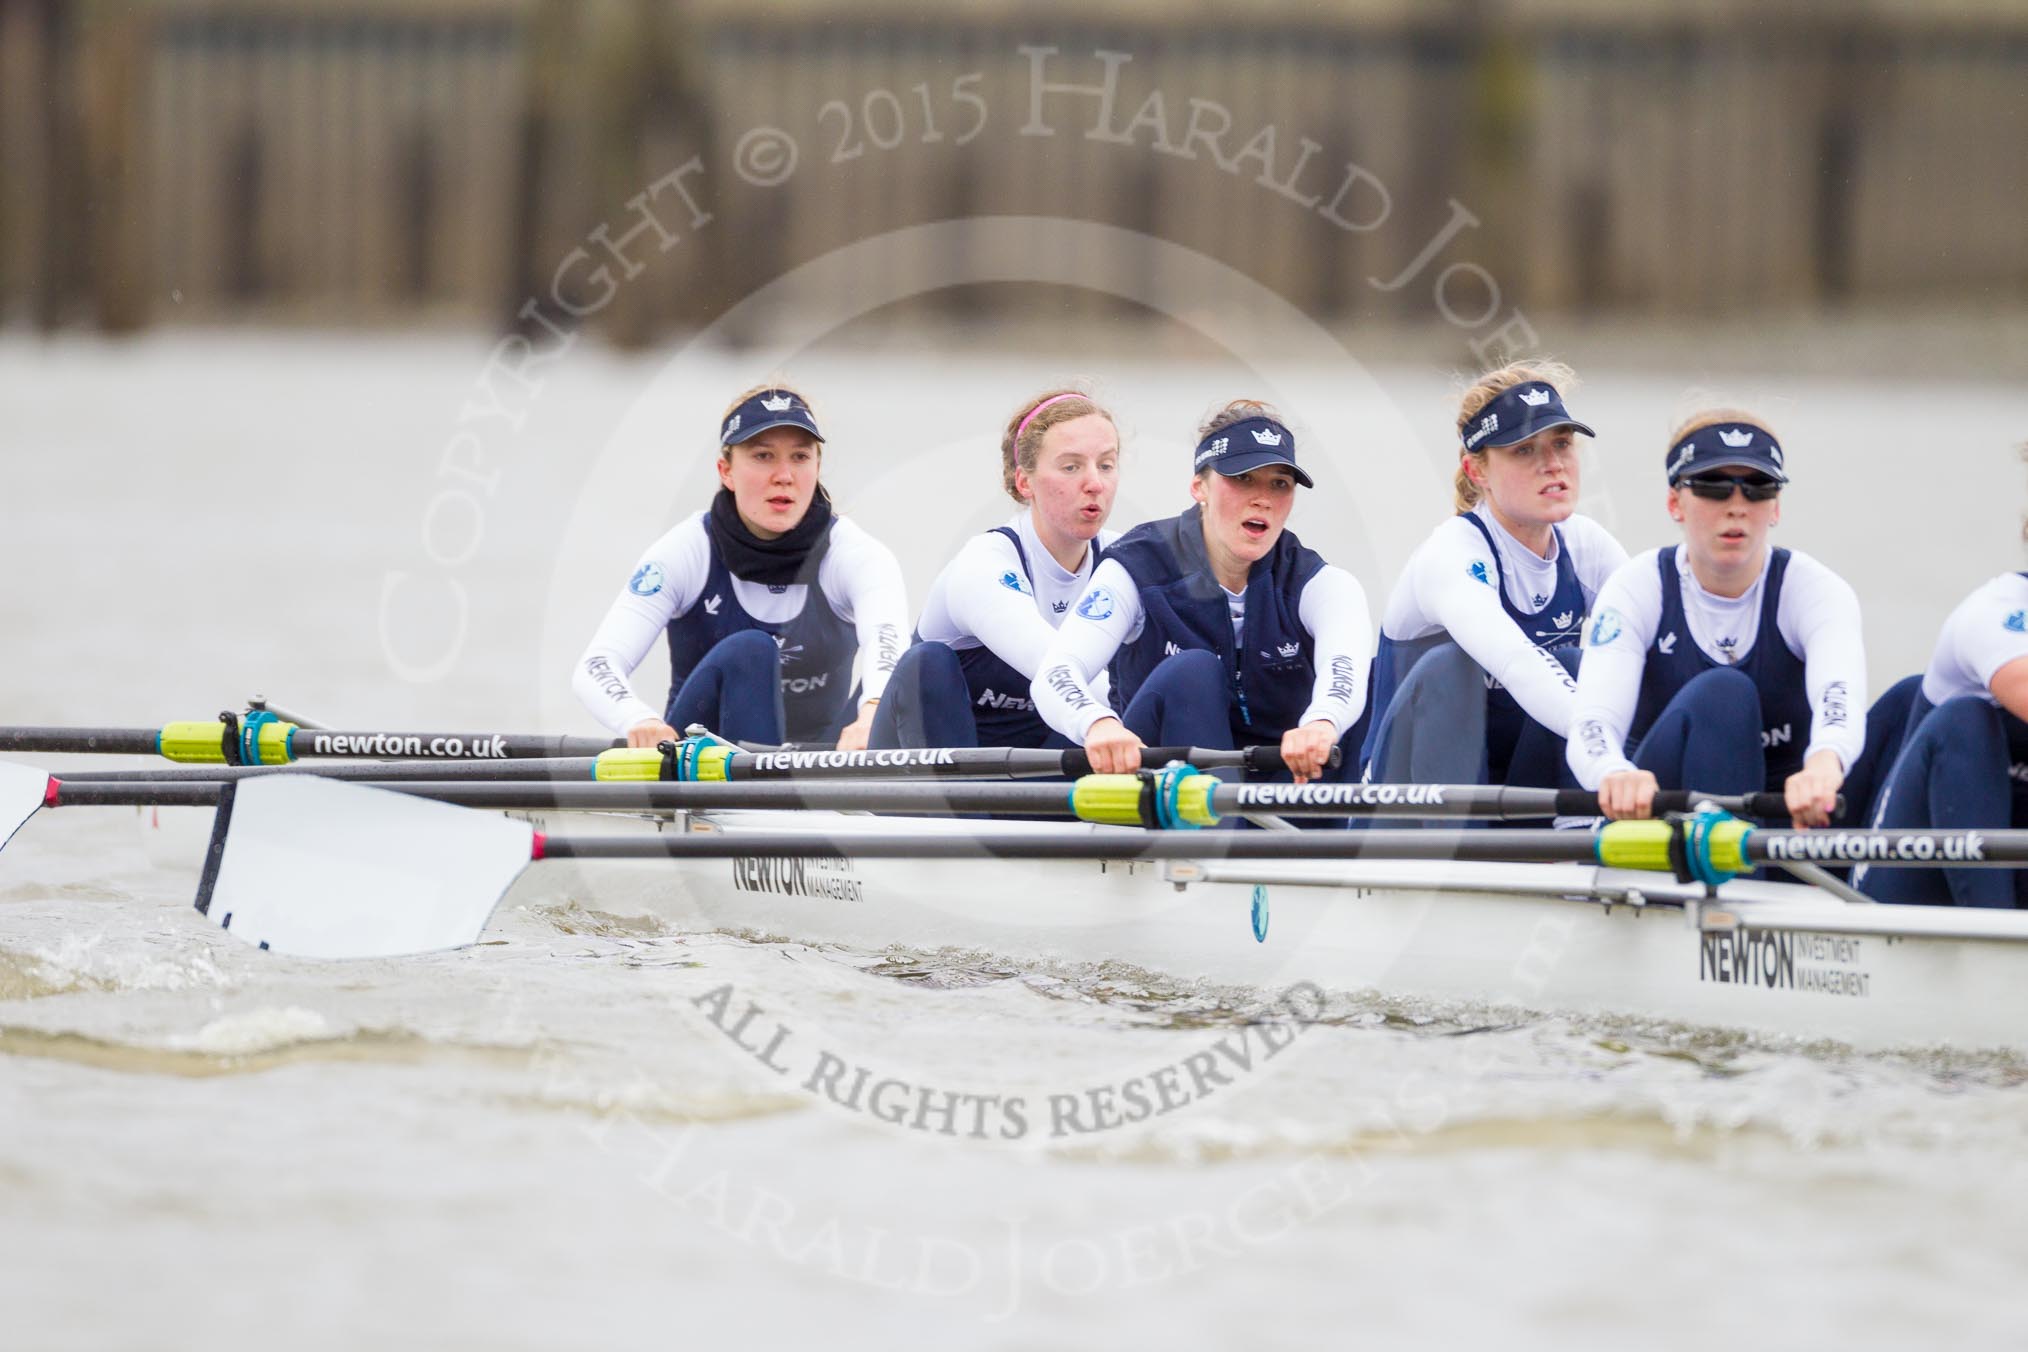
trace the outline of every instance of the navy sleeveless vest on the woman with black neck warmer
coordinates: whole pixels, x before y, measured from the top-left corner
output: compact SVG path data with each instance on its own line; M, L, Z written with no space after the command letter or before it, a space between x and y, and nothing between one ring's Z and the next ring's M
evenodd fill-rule
M756 620L740 606L732 574L718 557L718 543L712 541L710 549L712 570L704 576L698 604L669 620L669 707L675 707L675 693L706 653L732 634L758 628L773 634L781 649L783 736L791 742L836 740L838 730L852 722L858 630L831 610L815 578L809 580L803 610L795 618L781 624Z

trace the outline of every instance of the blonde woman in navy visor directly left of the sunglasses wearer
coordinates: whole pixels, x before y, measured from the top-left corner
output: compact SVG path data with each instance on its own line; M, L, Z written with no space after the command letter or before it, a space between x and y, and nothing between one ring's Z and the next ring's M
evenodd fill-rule
M1626 561L1578 515L1570 367L1517 361L1458 401L1456 515L1401 572L1373 659L1367 778L1430 784L1568 780L1578 641Z

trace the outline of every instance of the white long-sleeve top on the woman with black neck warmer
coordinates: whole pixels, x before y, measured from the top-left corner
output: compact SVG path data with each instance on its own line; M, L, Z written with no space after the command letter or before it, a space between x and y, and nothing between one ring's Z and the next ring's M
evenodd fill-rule
M687 614L704 594L704 582L712 572L706 517L708 513L700 511L641 555L633 576L657 576L653 570L659 570L661 586L647 596L623 586L570 675L572 693L614 734L661 718L661 707L641 699L629 677L669 628L669 620ZM860 699L876 699L886 689L894 663L900 661L902 636L909 632L909 590L900 578L900 564L878 539L850 519L838 517L831 525L831 547L817 564L817 588L838 618L852 624L858 634ZM781 624L803 612L809 584L771 588L732 578L732 594L746 614Z

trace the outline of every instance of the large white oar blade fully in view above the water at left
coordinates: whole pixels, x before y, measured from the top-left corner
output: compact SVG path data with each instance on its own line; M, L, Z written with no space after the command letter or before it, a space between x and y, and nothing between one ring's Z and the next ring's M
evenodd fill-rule
M529 863L533 827L339 780L235 784L197 908L300 957L397 957L475 943Z

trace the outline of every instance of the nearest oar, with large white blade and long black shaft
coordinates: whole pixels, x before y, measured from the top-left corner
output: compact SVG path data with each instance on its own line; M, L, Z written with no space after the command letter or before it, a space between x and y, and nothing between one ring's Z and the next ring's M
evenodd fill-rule
M537 835L525 823L318 778L223 786L197 908L249 943L312 957L479 938L533 859L1472 859L1600 863L1722 882L1793 857L2022 863L2028 831L1756 831L1710 813L1586 831L1126 831L1000 827Z

